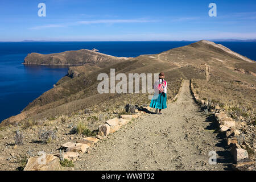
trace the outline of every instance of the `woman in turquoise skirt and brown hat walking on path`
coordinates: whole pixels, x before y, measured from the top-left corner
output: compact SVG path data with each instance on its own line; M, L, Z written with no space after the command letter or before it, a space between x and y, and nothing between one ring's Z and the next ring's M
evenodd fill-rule
M156 114L162 114L162 109L166 109L167 81L164 80L164 73L159 73L158 80L154 84L155 94L151 100L150 107L155 108ZM158 112L159 110L159 112Z

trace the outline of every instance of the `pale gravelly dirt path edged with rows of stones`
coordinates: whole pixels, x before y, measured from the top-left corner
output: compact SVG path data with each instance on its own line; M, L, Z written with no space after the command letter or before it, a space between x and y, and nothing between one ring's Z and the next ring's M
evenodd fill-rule
M163 115L145 114L75 162L77 170L224 170L230 161L213 119L192 100L189 81ZM217 164L208 153L217 152ZM228 158L228 159L226 159Z

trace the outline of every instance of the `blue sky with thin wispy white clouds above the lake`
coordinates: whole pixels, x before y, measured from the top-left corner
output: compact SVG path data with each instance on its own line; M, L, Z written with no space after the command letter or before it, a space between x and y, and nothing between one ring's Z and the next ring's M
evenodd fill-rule
M212 2L217 17L208 15ZM0 41L256 38L255 0L1 0L0 17Z

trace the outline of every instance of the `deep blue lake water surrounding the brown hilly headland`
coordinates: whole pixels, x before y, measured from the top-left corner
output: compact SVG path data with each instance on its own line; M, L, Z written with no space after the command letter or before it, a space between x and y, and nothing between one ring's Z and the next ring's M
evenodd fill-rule
M57 53L96 48L113 56L159 53L192 42L15 42L0 43L0 122L21 110L67 75L67 67L23 65L28 53ZM256 60L255 42L216 42Z

